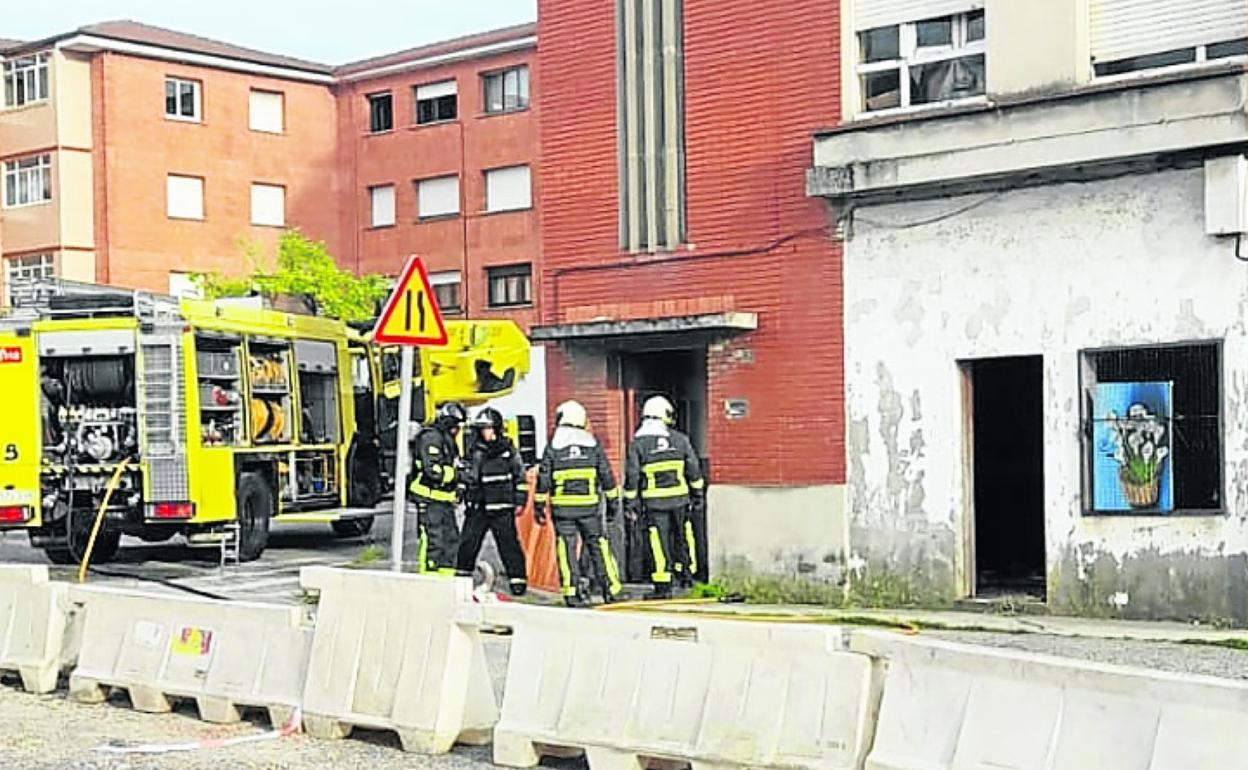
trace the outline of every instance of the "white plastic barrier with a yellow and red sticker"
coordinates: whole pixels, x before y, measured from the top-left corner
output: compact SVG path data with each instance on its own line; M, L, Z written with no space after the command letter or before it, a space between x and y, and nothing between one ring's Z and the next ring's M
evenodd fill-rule
M275 726L300 706L311 645L301 608L95 587L74 587L71 598L84 613L74 700L99 703L105 686L124 688L139 711L187 698L206 721L262 708Z

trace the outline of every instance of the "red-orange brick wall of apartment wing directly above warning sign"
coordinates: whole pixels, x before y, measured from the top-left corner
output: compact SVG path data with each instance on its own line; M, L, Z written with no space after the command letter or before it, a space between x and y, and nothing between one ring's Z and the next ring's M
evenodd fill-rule
M484 173L489 168L529 165L535 186L535 109L485 115L480 82L483 72L520 64L530 64L532 75L532 50L517 51L337 87L339 165L347 175L341 225L347 233L342 252L344 263L363 272L394 273L408 255L417 253L429 271L458 270L463 273L461 291L467 291L469 316L512 318L525 327L534 321L533 307L487 307L485 270L529 262L537 286L540 248L535 211L484 213ZM416 125L413 89L452 79L457 81L458 120ZM371 135L367 96L379 91L393 95L394 130ZM529 95L530 104L535 104L535 76L530 77ZM417 221L414 182L451 175L461 177L459 216ZM369 226L368 187L391 183L396 192L396 223L373 228Z

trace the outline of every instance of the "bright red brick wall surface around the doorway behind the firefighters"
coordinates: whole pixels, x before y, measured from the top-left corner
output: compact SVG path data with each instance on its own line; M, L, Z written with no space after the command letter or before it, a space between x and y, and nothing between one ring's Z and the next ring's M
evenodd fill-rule
M658 257L619 250L614 2L540 0L538 34L543 322L759 313L708 354L713 480L842 483L840 250L804 190L811 132L839 114L836 5L686 0L689 246ZM565 352L550 398L584 401L618 454L605 384L602 354Z

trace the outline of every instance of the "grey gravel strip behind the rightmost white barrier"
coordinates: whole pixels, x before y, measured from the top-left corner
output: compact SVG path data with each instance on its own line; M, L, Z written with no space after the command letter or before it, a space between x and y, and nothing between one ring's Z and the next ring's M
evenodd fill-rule
M1201 644L981 631L924 631L924 636L1176 674L1248 679L1248 651Z

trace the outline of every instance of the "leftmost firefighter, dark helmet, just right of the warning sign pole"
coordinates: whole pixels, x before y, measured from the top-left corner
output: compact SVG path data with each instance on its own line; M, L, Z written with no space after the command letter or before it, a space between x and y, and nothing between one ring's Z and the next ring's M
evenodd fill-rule
M468 422L463 406L438 407L432 426L416 437L411 492L419 527L418 572L456 574L459 528L456 524L458 487L464 480L456 436Z

